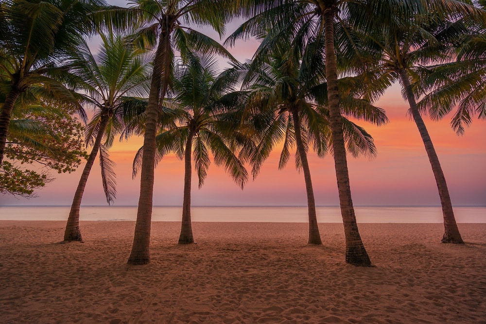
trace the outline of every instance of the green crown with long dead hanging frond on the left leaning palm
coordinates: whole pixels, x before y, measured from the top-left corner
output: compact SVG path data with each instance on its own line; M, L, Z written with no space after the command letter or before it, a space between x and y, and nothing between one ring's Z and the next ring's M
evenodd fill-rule
M104 142L100 146L100 165L103 187L108 204L116 195L115 164L108 149L116 135L136 120L137 112L127 109L130 102L149 95L152 66L146 51L127 44L125 33L100 33L102 44L95 56L82 41L69 61L70 72L78 91L84 92L84 102L94 108L94 115L86 126L86 144L93 144L100 132ZM138 112L139 114L141 112ZM107 123L103 121L107 119ZM103 129L102 128L103 125Z

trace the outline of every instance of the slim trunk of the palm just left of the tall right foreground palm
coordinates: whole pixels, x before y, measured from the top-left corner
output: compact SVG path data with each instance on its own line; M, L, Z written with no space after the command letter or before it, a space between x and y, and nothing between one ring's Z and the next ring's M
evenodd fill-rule
M297 150L299 151L300 161L302 163L302 170L304 171L305 189L307 192L307 209L309 212L309 244L322 244L321 236L319 235L319 227L317 226L311 170L309 169L307 153L305 152L304 143L302 142L300 119L297 108L293 108L291 110L291 113L292 119L294 119L295 142L297 144Z

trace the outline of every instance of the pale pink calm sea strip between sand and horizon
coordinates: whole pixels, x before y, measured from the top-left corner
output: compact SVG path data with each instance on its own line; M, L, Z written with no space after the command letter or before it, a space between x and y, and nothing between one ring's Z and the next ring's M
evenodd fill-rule
M355 207L362 223L438 223L440 207L370 206ZM457 222L486 222L486 206L455 207ZM0 206L0 220L65 221L69 206ZM178 222L180 206L154 206L152 220ZM193 222L307 222L307 206L193 206ZM81 206L82 221L135 221L137 206ZM317 207L318 222L342 222L337 206Z

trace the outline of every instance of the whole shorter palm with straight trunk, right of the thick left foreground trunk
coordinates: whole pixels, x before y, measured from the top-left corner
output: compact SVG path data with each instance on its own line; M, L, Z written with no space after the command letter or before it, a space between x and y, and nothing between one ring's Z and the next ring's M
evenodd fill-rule
M216 72L216 61L204 55L194 55L187 64L177 65L168 92L170 99L167 100L167 104L173 107L175 120L169 121L168 127L162 128L161 134L156 137L157 159L168 153L175 153L184 159L184 198L179 244L194 242L191 226L192 159L199 188L206 179L210 164L209 152L216 165L223 166L242 189L248 181L248 174L236 154L237 130L232 127L234 122L231 122L238 115L238 109L225 104L225 95L234 90L232 84L236 80L231 73L224 72L218 76ZM136 155L134 172L141 165L142 151L140 149Z

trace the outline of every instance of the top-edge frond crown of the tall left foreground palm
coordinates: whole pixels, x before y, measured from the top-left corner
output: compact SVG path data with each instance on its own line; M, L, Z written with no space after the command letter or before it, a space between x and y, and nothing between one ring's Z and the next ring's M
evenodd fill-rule
M107 7L95 14L98 20L109 24L108 28L124 29L127 25L141 25L132 40L145 49L155 49L163 30L173 32L171 51L178 51L187 59L192 51L204 54L219 54L234 60L232 55L217 41L202 34L189 25L209 25L218 34L225 33L228 21L222 5L223 0L135 0L130 8Z

